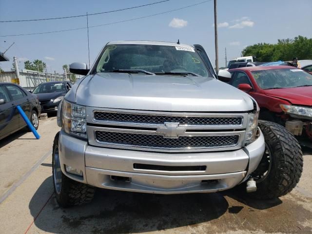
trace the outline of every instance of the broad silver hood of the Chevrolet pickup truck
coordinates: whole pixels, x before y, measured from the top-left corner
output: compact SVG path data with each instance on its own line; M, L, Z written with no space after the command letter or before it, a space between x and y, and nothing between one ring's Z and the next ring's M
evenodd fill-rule
M246 93L215 78L191 76L97 73L74 85L66 99L85 106L131 110L253 110L253 101Z

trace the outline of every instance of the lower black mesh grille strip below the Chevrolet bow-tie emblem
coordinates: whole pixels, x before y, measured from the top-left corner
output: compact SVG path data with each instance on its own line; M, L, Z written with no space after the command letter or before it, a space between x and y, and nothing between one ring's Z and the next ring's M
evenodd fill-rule
M180 136L178 138L165 138L161 135L120 133L109 131L96 131L97 141L119 145L154 148L211 148L226 147L237 144L239 136Z

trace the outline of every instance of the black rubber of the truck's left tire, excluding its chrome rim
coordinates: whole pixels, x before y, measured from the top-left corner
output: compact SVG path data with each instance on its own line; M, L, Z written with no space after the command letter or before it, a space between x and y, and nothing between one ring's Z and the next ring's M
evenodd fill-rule
M54 152L56 147L59 147L59 132L54 138L53 152L52 152L52 174L54 178ZM92 201L95 187L87 184L80 183L73 180L62 173L61 190L58 194L55 189L55 183L53 183L56 199L61 207L71 207L89 203Z

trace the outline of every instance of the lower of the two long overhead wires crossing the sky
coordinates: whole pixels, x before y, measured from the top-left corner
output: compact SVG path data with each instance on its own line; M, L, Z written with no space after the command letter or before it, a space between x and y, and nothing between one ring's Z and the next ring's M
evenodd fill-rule
M184 6L184 7L176 8L176 9L173 9L173 10L170 10L170 11L165 11L165 12L156 13L156 14L153 14L153 15L142 16L142 17L137 17L137 18L133 18L133 19L129 19L129 20L120 20L120 21L111 22L111 23L105 23L105 24L99 24L99 25L89 26L89 28L107 26L107 25L111 25L111 24L129 22L129 21L133 21L133 20L140 20L140 19L149 18L149 17L153 17L153 16L163 15L163 14L166 14L166 13L170 13L170 12L182 10L182 9L185 9L185 8L189 8L189 7L192 7L192 6L196 6L196 5L199 5L199 4L203 4L203 3L206 3L206 2L208 2L208 1L211 1L211 0L206 0L206 1L198 2L198 3L196 3L196 4L187 5L187 6ZM89 14L88 14L88 15L89 15ZM48 33L60 33L60 32L74 31L74 30L80 30L80 29L86 29L86 28L87 28L87 27L81 27L81 28L71 28L71 29L64 29L64 30L50 31L50 32L26 33L26 34L15 34L15 35L3 35L3 36L0 36L0 37L18 37L18 36L39 35L39 34L48 34Z

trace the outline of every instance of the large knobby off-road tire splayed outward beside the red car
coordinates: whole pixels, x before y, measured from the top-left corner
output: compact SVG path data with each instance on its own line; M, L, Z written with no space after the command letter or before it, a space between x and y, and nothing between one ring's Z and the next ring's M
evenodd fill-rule
M259 127L271 151L272 166L269 175L256 183L257 191L249 195L272 199L288 194L299 182L303 157L297 139L283 126L259 120Z

